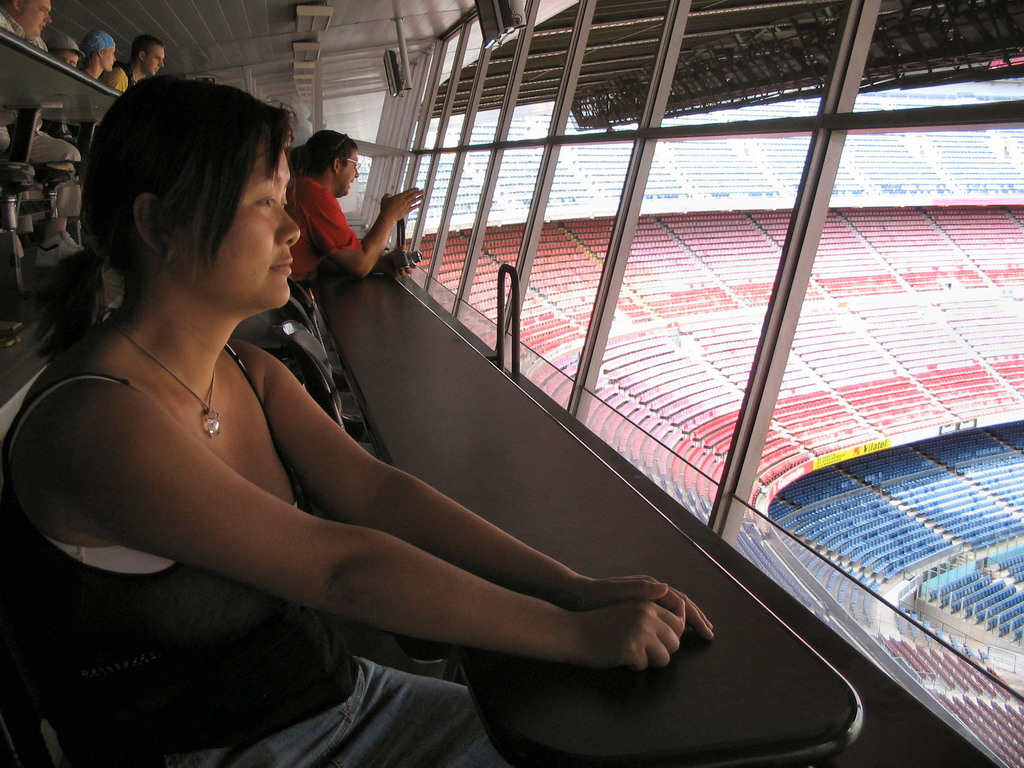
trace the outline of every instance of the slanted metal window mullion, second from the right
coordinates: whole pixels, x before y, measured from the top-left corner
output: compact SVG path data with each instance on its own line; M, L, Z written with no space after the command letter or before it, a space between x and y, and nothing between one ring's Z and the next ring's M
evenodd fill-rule
M650 86L644 101L644 111L640 117L640 128L654 128L665 119L665 110L672 91L672 81L676 72L676 60L683 42L686 20L690 11L691 0L670 0L662 25L662 44L655 54L651 68ZM643 205L643 195L650 175L654 151L657 146L653 139L638 137L633 144L633 154L623 182L623 195L618 201L618 210L612 223L608 251L601 270L601 280L594 297L594 310L591 313L587 338L580 350L580 362L577 376L569 393L567 410L579 417L586 393L593 391L597 385L597 377L608 344L608 335L614 321L615 305L623 287L623 279L629 263L633 239L636 236L637 221L640 218L640 208Z

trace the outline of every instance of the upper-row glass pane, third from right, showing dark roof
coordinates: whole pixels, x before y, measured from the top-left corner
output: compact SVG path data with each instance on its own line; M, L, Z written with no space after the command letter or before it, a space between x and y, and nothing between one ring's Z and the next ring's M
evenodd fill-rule
M566 133L636 128L668 5L667 0L598 0Z

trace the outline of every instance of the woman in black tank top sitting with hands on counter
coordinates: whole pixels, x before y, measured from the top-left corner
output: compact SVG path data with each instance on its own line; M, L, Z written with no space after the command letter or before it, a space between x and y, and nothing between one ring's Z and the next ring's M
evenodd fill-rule
M96 132L91 248L59 268L0 503L4 635L76 768L503 764L463 687L353 658L339 616L593 667L711 637L681 593L527 548L227 345L289 297L289 137L282 110L165 78Z

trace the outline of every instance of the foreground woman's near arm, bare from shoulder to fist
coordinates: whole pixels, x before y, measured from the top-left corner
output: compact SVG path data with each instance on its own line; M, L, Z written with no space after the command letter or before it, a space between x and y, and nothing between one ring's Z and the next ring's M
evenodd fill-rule
M296 424L308 425L318 409L295 386ZM262 438L241 422L234 429L240 445ZM328 452L319 458L325 466L344 466L364 453L340 429L330 431L342 436L319 445ZM298 437L285 432L284 443ZM319 428L307 435L313 444L327 436ZM110 382L76 383L27 420L13 457L15 488L44 534L71 531L151 552L394 632L590 666L666 664L678 647L684 623L654 602L565 610L359 519L308 515L247 480L204 440L145 394ZM377 487L374 479L360 482L365 465L353 464L341 472L352 481L342 492L343 511L357 509ZM510 561L519 557L525 559Z

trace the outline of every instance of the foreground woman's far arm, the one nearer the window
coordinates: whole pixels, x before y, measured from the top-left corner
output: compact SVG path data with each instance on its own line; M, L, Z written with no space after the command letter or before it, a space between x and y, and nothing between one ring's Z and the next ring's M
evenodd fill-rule
M489 582L571 610L653 600L711 637L678 591L647 577L593 580L527 547L421 480L376 460L339 429L276 360L257 352L275 434L303 486L334 519L375 527ZM303 401L301 409L297 400ZM280 410L280 411L279 411ZM340 461L325 461L340 457Z

